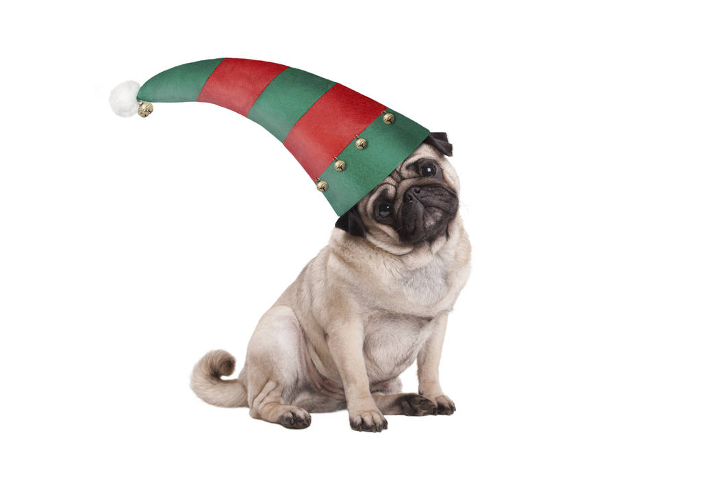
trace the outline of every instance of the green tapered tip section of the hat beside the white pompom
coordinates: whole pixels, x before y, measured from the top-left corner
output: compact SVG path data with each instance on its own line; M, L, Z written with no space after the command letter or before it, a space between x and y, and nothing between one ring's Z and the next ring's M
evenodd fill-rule
M147 80L137 93L144 102L194 102L207 79L224 58L186 63L160 72Z

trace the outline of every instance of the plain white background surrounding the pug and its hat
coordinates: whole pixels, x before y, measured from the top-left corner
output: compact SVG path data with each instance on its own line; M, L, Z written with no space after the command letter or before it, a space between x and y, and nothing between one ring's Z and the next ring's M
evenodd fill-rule
M0 477L717 479L714 2L23 5L0 15ZM224 56L449 133L474 246L454 416L289 431L188 388L207 350L242 363L335 220L236 113L109 110Z

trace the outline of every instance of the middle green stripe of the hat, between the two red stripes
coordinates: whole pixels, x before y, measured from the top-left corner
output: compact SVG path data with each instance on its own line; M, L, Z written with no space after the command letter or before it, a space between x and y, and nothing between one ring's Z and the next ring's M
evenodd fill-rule
M335 83L290 67L262 90L247 118L283 142L300 117Z

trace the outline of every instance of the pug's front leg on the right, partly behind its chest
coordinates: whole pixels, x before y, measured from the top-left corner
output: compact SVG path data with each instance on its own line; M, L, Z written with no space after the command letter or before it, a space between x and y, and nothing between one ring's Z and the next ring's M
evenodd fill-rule
M434 330L417 355L419 393L436 403L437 414L450 415L457 408L454 407L452 399L445 396L439 386L439 358L442 355L444 332L447 326L446 312L432 319L431 322L434 324Z

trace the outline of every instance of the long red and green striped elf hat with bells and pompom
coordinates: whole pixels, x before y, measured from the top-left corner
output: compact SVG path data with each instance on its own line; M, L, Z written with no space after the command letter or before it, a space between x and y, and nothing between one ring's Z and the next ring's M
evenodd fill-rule
M342 84L272 62L201 60L110 94L119 116L150 102L208 102L259 123L293 154L337 215L387 177L429 135L410 118Z

